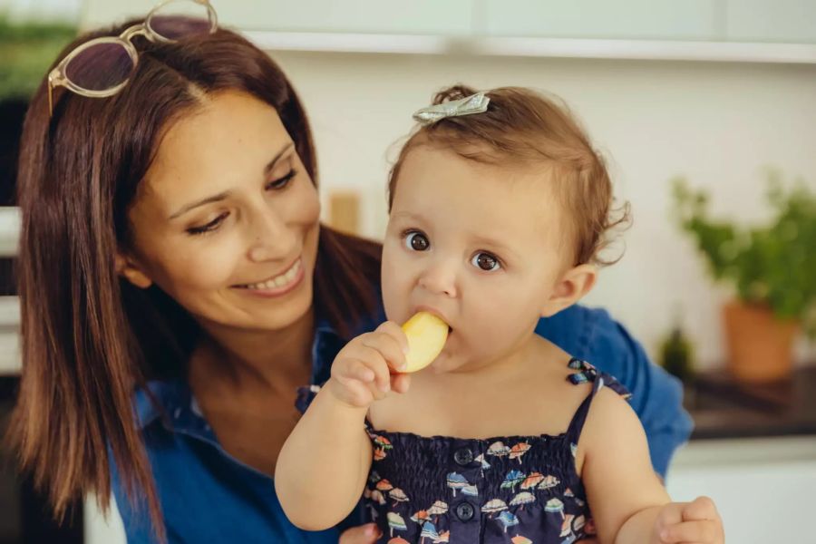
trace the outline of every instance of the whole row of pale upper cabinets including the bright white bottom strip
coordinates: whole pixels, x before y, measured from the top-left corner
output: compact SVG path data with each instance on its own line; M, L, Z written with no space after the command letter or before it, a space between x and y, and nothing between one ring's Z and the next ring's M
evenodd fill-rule
M772 3L773 2L773 3ZM83 29L152 0L84 0ZM213 0L268 51L816 63L816 0Z

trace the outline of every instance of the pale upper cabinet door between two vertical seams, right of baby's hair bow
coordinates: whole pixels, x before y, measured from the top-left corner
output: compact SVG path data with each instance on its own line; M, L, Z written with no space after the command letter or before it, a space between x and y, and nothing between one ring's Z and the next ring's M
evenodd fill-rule
M720 0L484 0L485 34L559 38L717 39Z

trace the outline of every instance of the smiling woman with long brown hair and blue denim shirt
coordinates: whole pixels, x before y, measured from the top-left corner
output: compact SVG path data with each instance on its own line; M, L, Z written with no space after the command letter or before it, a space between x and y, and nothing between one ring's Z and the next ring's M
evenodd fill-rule
M271 474L298 387L383 320L380 248L319 225L292 85L213 21L169 24L170 42L156 17L85 35L31 102L13 437L57 515L113 491L131 543L334 543L338 529L288 522ZM120 34L127 58L121 44L69 54ZM690 431L677 384L603 311L538 330L621 378L665 471Z

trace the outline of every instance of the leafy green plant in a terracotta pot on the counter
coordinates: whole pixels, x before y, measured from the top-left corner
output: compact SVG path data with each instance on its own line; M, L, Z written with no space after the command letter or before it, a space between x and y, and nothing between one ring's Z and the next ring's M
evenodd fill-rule
M680 228L714 279L734 289L723 309L729 370L749 382L786 377L798 332L816 336L816 192L801 180L785 189L769 170L772 217L759 226L712 219L708 193L682 178L673 197Z

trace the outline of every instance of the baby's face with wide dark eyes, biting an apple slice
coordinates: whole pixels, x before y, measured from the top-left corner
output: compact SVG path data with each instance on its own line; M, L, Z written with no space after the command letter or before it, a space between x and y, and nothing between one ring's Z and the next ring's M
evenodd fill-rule
M389 319L419 310L452 327L437 372L490 364L529 338L571 266L546 174L423 145L403 162L383 250Z

